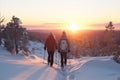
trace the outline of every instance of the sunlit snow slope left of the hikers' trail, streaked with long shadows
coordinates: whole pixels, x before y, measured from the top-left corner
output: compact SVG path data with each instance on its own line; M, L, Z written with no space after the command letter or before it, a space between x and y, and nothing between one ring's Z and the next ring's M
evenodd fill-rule
M55 65L56 66L56 65ZM54 68L36 55L10 55L0 47L0 80L64 80Z

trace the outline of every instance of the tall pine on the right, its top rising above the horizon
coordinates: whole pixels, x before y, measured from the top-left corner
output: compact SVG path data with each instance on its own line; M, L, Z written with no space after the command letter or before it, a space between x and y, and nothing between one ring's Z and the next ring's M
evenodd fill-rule
M105 28L104 42L106 43L106 46L104 46L103 49L104 55L112 55L115 48L115 27L113 27L113 23L110 21Z

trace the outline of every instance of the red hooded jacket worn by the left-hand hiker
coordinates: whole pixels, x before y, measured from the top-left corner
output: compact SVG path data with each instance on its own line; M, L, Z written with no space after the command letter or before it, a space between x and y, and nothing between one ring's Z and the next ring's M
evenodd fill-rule
M53 52L57 48L56 39L52 33L50 33L45 42L45 49L46 48L48 52Z

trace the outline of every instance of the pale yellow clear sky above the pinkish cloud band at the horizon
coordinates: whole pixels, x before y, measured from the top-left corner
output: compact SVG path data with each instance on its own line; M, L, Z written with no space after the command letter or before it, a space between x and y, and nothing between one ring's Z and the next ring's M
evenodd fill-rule
M6 22L15 15L24 25L77 23L97 29L90 25L120 23L120 0L0 0L0 13Z

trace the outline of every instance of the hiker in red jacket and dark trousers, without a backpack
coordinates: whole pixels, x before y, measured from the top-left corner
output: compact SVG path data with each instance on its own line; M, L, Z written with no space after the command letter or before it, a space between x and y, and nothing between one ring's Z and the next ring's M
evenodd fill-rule
M44 49L48 52L48 65L53 66L54 51L57 48L56 39L52 33L48 36Z

